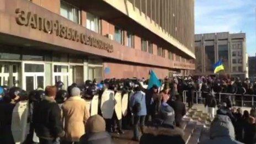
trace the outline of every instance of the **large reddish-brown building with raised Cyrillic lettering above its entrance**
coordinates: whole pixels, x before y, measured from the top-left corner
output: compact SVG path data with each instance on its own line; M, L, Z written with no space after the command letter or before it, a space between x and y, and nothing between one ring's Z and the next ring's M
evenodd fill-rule
M194 1L0 0L0 85L194 70Z

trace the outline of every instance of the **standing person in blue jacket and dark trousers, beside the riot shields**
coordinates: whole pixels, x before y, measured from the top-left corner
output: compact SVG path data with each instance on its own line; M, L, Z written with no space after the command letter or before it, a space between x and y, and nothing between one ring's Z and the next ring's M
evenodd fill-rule
M135 88L135 93L130 99L130 108L134 115L134 141L138 141L138 124L140 124L141 130L145 125L145 116L147 115L145 94L141 91L140 87Z

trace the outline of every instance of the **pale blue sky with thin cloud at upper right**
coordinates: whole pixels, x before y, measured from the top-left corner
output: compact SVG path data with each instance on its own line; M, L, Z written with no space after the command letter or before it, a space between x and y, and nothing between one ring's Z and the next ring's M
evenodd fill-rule
M195 0L195 33L246 33L249 56L256 53L256 0Z

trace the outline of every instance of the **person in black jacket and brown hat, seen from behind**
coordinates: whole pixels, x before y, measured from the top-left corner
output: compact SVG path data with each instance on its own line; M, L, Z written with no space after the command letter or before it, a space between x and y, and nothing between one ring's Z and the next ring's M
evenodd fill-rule
M36 135L40 144L60 143L60 137L65 135L61 122L61 110L55 101L56 87L47 86L45 97L33 113Z

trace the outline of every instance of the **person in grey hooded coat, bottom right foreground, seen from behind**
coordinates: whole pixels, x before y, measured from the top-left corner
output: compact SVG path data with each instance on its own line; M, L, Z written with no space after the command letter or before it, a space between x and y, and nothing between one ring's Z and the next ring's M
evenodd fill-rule
M210 138L200 144L240 144L235 140L234 127L227 115L218 114L211 123ZM241 143L242 144L242 143Z

